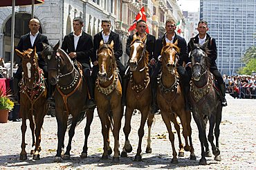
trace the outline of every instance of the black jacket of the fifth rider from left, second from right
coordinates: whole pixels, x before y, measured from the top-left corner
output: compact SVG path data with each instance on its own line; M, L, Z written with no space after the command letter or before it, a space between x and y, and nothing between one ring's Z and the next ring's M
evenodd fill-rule
M165 39L165 35L163 35L163 37L160 37L156 40L155 55L154 55L154 58L156 60L158 59L158 56L161 55L161 50L163 48L163 39ZM178 40L178 45L177 46L181 49L181 51L179 53L179 62L178 62L178 64L180 66L183 66L183 62L185 62L185 64L190 62L190 59L188 58L187 42L185 41L185 39L183 39L183 37L181 37L179 35L176 35L176 33L175 33L173 42L175 42L176 40Z

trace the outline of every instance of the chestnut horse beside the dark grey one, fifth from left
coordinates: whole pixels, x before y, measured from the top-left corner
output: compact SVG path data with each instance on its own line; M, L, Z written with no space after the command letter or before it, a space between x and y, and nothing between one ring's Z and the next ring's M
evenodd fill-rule
M177 46L178 40L172 43L163 41L163 48L161 51L162 71L158 78L158 88L156 93L156 101L161 110L161 115L167 131L169 133L169 140L172 143L172 163L178 163L176 149L174 147L174 133L172 133L171 121L179 137L179 156L184 156L185 151L190 151L190 159L196 160L194 155L194 147L192 146L190 126L191 114L190 111L185 111L185 100L181 84L179 84L179 75L176 72L176 63L179 59L179 47ZM181 125L183 126L183 137L185 138L185 147L181 142L180 126L176 120L179 116ZM188 137L190 145L188 144Z

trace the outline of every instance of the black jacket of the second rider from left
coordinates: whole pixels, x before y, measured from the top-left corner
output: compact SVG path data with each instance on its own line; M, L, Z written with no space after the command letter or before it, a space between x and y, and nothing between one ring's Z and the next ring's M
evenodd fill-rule
M64 40L62 42L62 49L67 54L75 52L77 54L77 57L75 59L83 66L86 66L86 64L90 65L90 58L91 62L96 61L95 55L93 55L93 38L91 37L91 35L86 34L86 32L84 31L82 31L82 35L77 42L76 50L73 32L69 33L64 37Z

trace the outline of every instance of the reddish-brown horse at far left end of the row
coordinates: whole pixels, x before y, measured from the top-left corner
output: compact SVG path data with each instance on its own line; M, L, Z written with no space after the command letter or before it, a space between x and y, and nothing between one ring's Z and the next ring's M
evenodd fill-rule
M39 151L41 151L41 129L44 122L44 116L47 112L47 91L46 84L44 82L44 73L38 66L36 49L28 49L21 53L16 49L17 55L22 59L23 77L20 82L20 113L22 117L22 142L20 160L26 160L26 119L28 117L30 121L30 129L32 132L32 147L35 149L31 151L33 154L33 160L39 160ZM34 120L33 120L34 118Z

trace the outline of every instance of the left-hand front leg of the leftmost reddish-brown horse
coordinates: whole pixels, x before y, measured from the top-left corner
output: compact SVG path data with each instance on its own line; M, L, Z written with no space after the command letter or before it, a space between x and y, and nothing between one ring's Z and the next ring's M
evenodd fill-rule
M26 111L24 109L24 106L20 107L20 111L21 111L21 117L22 117L22 124L21 124L21 133L22 133L22 140L21 140L21 153L19 154L19 159L20 160L26 160L28 159L27 153L26 153L26 143L25 143L25 134L26 134L26 129L27 129L27 125L26 125Z

